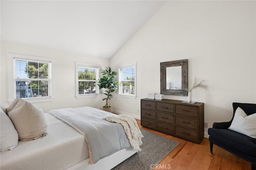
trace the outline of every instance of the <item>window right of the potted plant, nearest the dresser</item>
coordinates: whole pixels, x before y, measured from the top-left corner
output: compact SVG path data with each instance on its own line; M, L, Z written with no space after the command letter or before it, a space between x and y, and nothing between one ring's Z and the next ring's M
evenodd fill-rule
M136 98L136 63L119 67L119 95Z

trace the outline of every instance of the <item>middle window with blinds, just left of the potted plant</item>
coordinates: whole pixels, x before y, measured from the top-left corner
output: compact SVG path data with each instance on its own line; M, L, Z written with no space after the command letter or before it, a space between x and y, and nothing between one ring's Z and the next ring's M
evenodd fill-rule
M76 98L95 97L98 89L99 67L76 62Z

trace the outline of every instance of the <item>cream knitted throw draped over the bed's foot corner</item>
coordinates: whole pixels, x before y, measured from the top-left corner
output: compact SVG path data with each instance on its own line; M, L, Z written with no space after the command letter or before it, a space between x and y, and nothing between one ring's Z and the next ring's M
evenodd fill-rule
M109 122L120 123L124 127L124 131L133 149L136 152L141 151L141 138L144 136L142 135L140 128L133 117L129 115L112 115L106 116L103 119Z

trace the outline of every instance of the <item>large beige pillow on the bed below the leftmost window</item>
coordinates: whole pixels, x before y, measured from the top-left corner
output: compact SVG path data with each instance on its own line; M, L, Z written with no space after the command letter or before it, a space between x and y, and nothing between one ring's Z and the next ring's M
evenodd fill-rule
M28 101L20 99L9 112L9 117L19 134L19 140L34 140L47 134L44 112Z

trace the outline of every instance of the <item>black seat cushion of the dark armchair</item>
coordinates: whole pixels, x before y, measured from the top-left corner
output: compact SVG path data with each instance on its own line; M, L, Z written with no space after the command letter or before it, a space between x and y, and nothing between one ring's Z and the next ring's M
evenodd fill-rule
M224 145L234 148L234 150L256 157L255 138L229 129L209 128L208 134Z

